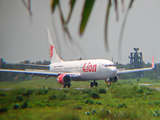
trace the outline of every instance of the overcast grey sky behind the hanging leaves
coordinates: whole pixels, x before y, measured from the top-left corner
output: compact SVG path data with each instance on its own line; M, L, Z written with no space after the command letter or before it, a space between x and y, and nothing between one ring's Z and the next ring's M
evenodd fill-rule
M135 0L124 31L122 59L118 58L119 34L128 1L125 0L124 12L121 11L121 4L118 6L118 22L114 4L111 7L108 28L109 52L106 52L104 28L108 0L95 1L89 24L82 37L78 35L78 27L84 0L77 0L68 25L74 38L73 43L68 42L67 36L62 32L58 9L51 14L50 0L31 0L31 18L21 0L0 0L0 58L9 63L49 60L46 28L50 28L57 52L64 60L113 57L114 62L129 63L130 52L133 52L134 47L138 47L143 52L145 62L151 62L153 54L155 62L160 62L160 0ZM65 18L69 12L68 4L67 0L61 2ZM58 38L53 23L58 31Z

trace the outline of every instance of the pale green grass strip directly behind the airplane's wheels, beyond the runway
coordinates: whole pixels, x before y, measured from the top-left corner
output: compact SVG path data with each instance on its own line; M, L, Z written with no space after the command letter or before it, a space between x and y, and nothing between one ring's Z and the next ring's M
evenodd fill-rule
M91 81L72 81L71 82L71 88L90 88L90 82ZM140 78L140 80L137 82L137 79L128 79L128 80L118 80L118 84L133 84L137 85L138 83L152 83L153 87L159 87L160 86L160 79L157 80L151 80L147 78ZM98 81L99 87L107 87L107 83L104 80ZM56 78L51 77L47 80L44 80L44 77L34 77L33 80L28 81L13 81L13 82L0 82L0 89L3 88L62 88L63 85L59 84L56 81Z

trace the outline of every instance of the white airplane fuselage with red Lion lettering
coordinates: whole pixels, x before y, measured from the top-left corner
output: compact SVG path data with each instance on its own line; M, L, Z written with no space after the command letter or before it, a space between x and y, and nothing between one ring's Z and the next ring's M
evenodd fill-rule
M113 78L117 73L115 64L110 60L78 60L65 61L50 64L50 70L60 73L76 73L80 74L76 81L100 80Z

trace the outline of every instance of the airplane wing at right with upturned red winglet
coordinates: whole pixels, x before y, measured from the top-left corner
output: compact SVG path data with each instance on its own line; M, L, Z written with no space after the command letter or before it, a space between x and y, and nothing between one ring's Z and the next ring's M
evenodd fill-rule
M117 70L117 75L121 75L121 74L125 74L125 73L133 73L133 72L142 72L142 71L149 71L149 70L153 70L155 68L155 64L154 64L154 56L152 59L152 66L148 67L148 68L138 68L138 69L128 69L128 70Z

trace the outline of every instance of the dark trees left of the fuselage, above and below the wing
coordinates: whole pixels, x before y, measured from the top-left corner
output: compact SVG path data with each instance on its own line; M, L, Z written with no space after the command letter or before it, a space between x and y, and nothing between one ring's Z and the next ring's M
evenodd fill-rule
M1 69L18 69L18 70L48 69L48 68L39 67L39 66L32 66L32 64L33 65L34 64L36 64L36 65L49 65L50 61L44 60L44 61L30 62L30 60L25 60L23 62L13 64L13 63L5 62L3 60L3 58L0 59L0 68ZM0 72L0 81L24 81L24 80L31 80L30 75L21 74L21 73Z

